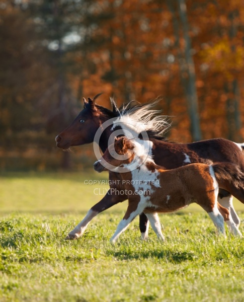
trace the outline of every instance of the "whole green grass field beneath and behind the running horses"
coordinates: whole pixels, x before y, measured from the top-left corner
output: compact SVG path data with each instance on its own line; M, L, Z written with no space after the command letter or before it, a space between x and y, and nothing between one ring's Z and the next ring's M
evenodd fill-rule
M218 237L197 206L160 215L166 242L138 218L111 245L126 202L101 213L77 241L67 233L102 195L107 174L0 176L0 301L243 301L244 240ZM101 193L108 186L99 186ZM244 233L244 207L235 201Z

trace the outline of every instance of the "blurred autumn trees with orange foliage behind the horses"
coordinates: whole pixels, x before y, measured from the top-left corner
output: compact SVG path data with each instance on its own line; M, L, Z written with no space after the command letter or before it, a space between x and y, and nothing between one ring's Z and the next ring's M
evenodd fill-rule
M242 141L243 42L242 0L2 0L0 169L68 166L54 137L100 92L161 96L171 139Z

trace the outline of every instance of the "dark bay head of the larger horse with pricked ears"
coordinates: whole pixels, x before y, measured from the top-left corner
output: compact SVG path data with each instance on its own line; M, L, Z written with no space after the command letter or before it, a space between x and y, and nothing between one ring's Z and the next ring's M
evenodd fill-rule
M100 125L106 119L113 117L113 111L95 104L95 99L99 95L94 99L88 98L88 102L84 98L84 109L56 136L55 140L59 148L68 149L70 146L93 142Z

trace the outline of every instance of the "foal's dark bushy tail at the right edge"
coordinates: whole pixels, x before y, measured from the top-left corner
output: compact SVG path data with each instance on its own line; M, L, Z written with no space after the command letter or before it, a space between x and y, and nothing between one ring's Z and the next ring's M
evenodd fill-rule
M219 187L228 191L244 203L244 173L231 163L212 164Z

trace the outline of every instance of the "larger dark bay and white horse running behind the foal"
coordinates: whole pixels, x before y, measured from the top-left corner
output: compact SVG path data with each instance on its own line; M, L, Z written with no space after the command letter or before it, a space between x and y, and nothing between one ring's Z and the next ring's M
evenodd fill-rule
M166 169L174 169L191 163L204 163L206 160L215 162L228 162L244 171L244 157L242 154L243 144L234 143L223 138L202 140L193 143L174 143L167 141L163 135L169 123L164 116L158 115L158 111L152 110L153 103L130 104L118 108L116 102L111 99L112 110L95 103L94 99L84 99L84 109L80 111L73 122L59 133L55 140L57 147L68 149L70 146L83 145L94 141L96 132L102 129L99 146L104 153L108 147L110 135L117 129L133 132L135 137L141 137L141 129L133 128L135 124L142 124L147 132L150 141L150 155L156 164L164 166ZM154 116L157 114L157 116ZM103 130L102 125L111 119L113 123ZM126 133L124 133L126 135ZM68 234L66 239L77 239L85 232L88 223L100 212L112 207L113 205L123 202L127 199L125 194L114 194L114 190L123 190L123 184L118 174L109 172L109 179L116 179L116 184L110 185L107 194L95 204L87 213L85 218ZM243 188L237 190L237 199L244 203ZM226 207L237 228L240 219L237 216L232 205L232 195L229 191L219 189L218 202ZM147 238L148 219L143 213L140 215L140 231L142 239Z

